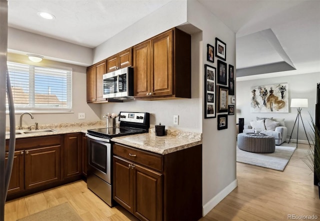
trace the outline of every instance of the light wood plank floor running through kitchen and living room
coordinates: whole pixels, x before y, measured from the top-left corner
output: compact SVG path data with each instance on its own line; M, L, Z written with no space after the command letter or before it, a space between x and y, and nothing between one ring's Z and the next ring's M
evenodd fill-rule
M320 220L318 189L301 160L307 148L299 144L284 172L237 163L238 187L200 221L282 221L288 215L315 215ZM84 221L136 220L120 206L108 207L83 181L9 201L4 220L15 221L64 202Z

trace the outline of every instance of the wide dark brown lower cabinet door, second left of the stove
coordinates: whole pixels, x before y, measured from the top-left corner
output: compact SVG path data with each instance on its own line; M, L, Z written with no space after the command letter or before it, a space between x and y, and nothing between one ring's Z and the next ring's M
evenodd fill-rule
M60 145L24 151L25 189L59 181Z

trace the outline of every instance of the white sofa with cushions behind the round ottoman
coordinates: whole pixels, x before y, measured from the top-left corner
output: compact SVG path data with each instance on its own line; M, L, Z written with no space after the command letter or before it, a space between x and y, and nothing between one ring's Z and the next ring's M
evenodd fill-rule
M254 133L254 130L260 130L260 133L274 137L275 145L285 142L287 128L284 124L284 118L260 118L251 121L250 125L243 126L243 133Z

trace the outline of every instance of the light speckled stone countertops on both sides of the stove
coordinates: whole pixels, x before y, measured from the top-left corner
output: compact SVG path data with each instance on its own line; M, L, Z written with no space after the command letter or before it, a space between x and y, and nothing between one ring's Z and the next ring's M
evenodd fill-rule
M103 127L105 127L104 121L39 125L39 130L53 129L54 131L44 132L40 134L16 135L16 139L78 132L86 133L88 129ZM161 155L169 154L175 151L202 144L201 133L183 132L176 130L167 130L166 132L166 136L155 136L154 128L152 128L151 126L151 128L149 129L149 133L114 137L111 139L111 141L114 143L127 145ZM9 136L6 135L5 138L9 139Z

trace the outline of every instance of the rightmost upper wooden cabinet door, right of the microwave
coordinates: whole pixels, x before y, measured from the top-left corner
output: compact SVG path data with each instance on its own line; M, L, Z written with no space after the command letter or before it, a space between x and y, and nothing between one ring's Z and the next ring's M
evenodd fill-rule
M172 30L151 39L152 96L172 95Z

